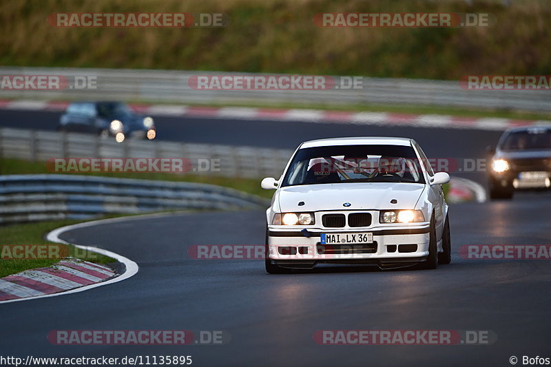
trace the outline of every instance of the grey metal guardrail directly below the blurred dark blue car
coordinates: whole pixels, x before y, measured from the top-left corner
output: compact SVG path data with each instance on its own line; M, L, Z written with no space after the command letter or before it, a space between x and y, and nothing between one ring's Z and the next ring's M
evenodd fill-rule
M196 169L193 174L224 177L279 177L293 151L260 147L236 147L165 141L133 140L93 134L43 132L0 128L0 157L47 161L50 158L186 158L220 163L220 170ZM55 173L55 172L54 172Z

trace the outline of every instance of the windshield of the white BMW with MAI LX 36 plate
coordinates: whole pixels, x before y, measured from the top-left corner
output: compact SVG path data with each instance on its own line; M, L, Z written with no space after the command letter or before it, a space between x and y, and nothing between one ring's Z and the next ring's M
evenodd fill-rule
M341 182L425 181L413 147L336 145L297 151L282 186Z

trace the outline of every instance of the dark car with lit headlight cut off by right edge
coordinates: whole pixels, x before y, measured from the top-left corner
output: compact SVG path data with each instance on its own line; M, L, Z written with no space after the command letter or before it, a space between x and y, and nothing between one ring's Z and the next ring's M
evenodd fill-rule
M488 153L490 198L510 199L517 189L551 187L551 126L508 129Z

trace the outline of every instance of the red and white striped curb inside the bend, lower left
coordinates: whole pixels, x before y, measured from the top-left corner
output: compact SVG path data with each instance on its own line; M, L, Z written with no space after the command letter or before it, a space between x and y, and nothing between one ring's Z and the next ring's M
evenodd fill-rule
M0 301L19 300L77 289L114 277L108 268L66 258L48 268L25 270L0 279Z

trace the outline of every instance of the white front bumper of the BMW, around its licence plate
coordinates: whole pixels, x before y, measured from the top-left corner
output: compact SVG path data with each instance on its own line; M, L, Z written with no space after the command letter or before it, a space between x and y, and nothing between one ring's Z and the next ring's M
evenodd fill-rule
M373 233L372 244L321 244L321 233ZM309 237L308 237L309 236ZM428 256L430 225L373 229L282 229L268 231L269 259L285 266L318 263L391 264L423 262Z

